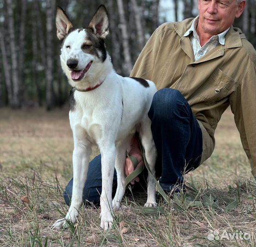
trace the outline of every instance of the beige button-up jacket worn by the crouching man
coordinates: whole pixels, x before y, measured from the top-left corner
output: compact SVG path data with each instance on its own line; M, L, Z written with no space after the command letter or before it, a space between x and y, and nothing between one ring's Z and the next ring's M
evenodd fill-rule
M195 61L189 37L183 37L192 21L158 27L131 76L154 81L158 89L178 89L184 95L202 129L201 163L211 156L214 131L230 105L256 177L256 51L238 28L231 27L225 45Z

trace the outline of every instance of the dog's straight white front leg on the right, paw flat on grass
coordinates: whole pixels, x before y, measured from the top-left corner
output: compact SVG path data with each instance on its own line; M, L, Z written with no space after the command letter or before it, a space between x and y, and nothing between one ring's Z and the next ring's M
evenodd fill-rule
M102 173L102 192L100 196L101 222L100 226L104 230L111 228L113 223L112 215L112 186L115 169L116 147L112 143L100 147L101 153L101 173Z

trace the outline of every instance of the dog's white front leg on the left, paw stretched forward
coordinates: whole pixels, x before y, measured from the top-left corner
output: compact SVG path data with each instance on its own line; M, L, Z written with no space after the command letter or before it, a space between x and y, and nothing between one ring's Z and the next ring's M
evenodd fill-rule
M73 150L73 188L71 205L65 218L57 220L52 228L58 229L67 226L67 220L77 222L78 210L83 203L83 187L87 178L91 147L87 140L74 138Z

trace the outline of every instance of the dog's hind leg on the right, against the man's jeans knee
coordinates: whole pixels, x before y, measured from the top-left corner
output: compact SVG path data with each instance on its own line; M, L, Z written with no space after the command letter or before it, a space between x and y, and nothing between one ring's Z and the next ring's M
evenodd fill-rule
M154 177L156 176L156 147L153 140L152 132L150 129L151 121L148 117L146 117L140 124L139 127L139 137L142 143L142 146L145 150L145 158L149 164L150 170ZM149 173L147 178L147 202L145 203L145 207L156 207L156 183L152 175Z

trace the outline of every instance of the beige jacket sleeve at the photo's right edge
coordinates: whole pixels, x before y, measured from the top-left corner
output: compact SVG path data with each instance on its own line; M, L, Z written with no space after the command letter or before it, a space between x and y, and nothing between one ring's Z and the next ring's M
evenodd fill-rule
M251 62L237 91L230 96L230 106L239 130L251 172L256 178L256 64Z

